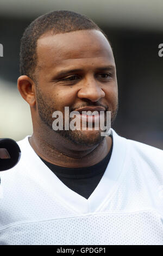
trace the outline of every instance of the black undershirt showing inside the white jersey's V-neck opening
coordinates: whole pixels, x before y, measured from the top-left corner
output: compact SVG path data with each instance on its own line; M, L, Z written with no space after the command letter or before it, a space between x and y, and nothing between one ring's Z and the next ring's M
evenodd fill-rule
M112 139L112 135L110 135ZM46 166L52 170L52 172L57 175L57 177L71 190L80 194L81 196L88 199L92 192L97 187L99 181L101 180L106 167L110 161L111 153L113 147L113 140L110 151L105 158L99 163L94 164L89 167L82 168L67 168L57 166L55 164L49 163L40 159L46 164Z

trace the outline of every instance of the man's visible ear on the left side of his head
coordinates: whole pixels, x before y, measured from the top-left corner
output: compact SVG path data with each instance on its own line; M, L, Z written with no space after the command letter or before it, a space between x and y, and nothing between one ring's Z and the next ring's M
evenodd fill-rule
M34 81L28 76L20 76L17 80L17 88L30 107L34 107L36 103Z

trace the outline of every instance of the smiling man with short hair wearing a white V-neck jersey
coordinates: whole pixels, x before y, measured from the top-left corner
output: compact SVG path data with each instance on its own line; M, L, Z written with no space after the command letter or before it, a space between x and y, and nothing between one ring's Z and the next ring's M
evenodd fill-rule
M1 174L0 243L162 245L162 150L95 129L100 111L113 123L118 109L105 34L83 15L53 11L24 32L20 67L33 135L18 142L17 166ZM66 127L65 107L79 112L77 126L89 124L82 111L97 111L92 129L54 130L56 111Z

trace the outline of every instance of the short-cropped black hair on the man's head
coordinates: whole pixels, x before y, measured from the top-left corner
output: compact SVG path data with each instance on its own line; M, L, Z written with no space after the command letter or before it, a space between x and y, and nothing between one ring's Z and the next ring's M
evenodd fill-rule
M27 75L35 80L34 73L37 64L36 46L37 40L41 35L48 31L60 34L86 29L96 29L104 34L102 29L91 19L73 11L51 11L35 19L26 28L21 39L20 74Z

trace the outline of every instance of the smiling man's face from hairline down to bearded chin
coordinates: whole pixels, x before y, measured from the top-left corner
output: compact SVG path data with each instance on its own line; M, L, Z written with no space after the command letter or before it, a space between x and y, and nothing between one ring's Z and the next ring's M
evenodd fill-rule
M104 107L113 123L118 109L116 68L111 47L96 30L53 35L37 41L36 111L39 124L53 130L54 111L70 112L82 107ZM70 118L71 121L71 118ZM82 122L82 121L81 121ZM97 145L104 139L99 130L63 130L68 140Z

